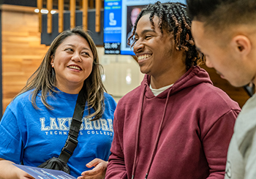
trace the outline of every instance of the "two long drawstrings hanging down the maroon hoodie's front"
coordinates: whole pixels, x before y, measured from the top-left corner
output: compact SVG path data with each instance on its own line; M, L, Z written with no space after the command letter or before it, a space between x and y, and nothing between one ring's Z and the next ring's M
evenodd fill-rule
M169 100L169 96L170 96L170 91L172 91L172 88L170 88L170 90L167 93L167 99L165 101L164 113L162 115L161 123L159 125L159 129L158 129L158 132L157 132L157 138L156 138L156 140L154 142L154 150L153 150L153 153L151 154L151 158L150 158L150 161L149 161L149 164L148 164L148 168L146 170L145 179L148 178L148 172L149 172L149 170L151 168L151 164L152 164L154 156L155 156L155 154L157 152L157 145L158 145L159 137L160 137L160 134L161 134L161 131L162 131L162 123L164 122L164 119L165 119L165 113L166 113L167 104L168 104L168 100ZM135 168L136 168L136 160L137 160L137 154L138 154L138 143L139 143L139 133L140 133L140 123L141 123L141 119L142 119L142 110L143 110L143 102L144 102L144 95L145 95L145 93L146 93L146 85L144 86L143 93L140 96L141 107L140 107L138 126L137 126L137 133L136 133L135 159L133 161L133 166L132 166L132 179L134 179L134 177L135 177Z

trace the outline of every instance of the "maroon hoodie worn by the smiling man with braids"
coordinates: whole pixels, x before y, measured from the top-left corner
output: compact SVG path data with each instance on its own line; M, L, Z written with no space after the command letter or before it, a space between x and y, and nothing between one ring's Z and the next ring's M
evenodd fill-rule
M158 96L149 83L118 102L105 178L224 178L238 104L198 66Z

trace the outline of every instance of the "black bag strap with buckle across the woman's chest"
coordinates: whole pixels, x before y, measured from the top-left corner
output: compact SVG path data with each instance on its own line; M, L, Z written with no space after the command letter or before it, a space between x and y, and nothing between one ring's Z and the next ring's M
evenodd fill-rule
M61 159L65 163L67 163L70 156L72 156L76 146L78 145L77 138L79 134L80 125L82 123L84 107L86 104L86 98L83 93L84 93L84 90L82 88L79 91L78 99L75 104L74 114L69 127L69 135L67 137L64 148L61 149L61 154L59 155L59 159Z

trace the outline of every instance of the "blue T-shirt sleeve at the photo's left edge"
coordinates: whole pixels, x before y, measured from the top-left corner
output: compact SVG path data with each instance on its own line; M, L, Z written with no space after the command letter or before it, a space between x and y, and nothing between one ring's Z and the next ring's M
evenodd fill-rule
M0 158L13 161L16 164L20 164L23 153L21 150L23 142L18 126L15 115L7 107L0 122Z

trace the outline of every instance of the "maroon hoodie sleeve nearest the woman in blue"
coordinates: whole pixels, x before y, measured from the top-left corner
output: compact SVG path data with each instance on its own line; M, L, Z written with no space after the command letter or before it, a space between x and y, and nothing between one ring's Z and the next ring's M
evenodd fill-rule
M127 178L127 171L124 163L124 153L122 149L122 132L123 126L121 129L118 128L118 120L120 118L117 117L117 110L114 115L114 122L113 122L113 130L114 130L114 137L113 142L110 149L110 157L108 159L108 167L107 172L105 175L105 179L126 179ZM120 133L119 133L120 132Z

